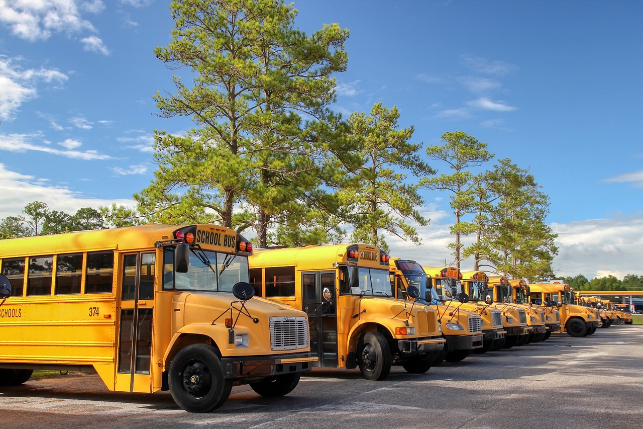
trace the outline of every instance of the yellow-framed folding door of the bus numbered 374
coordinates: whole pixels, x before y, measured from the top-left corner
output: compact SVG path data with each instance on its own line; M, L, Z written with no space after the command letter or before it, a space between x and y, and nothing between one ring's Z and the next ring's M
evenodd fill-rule
M156 254L123 255L116 390L150 392Z

